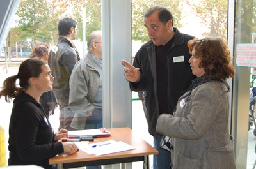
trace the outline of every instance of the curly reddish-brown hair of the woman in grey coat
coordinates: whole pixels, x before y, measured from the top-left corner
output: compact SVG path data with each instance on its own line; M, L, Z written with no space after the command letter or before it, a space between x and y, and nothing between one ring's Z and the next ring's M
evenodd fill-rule
M200 59L200 68L204 68L205 77L214 75L214 80L233 77L234 58L230 55L227 41L219 36L197 38L188 41L189 52L195 47L195 54Z

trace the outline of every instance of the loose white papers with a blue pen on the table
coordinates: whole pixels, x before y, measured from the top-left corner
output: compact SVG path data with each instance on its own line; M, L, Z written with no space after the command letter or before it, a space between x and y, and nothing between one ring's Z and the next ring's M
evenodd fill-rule
M79 147L79 150L84 151L87 154L95 154L96 156L102 156L104 154L111 154L114 152L122 152L136 149L127 143L121 141L116 142L115 140L90 144L77 143L76 145L77 147Z

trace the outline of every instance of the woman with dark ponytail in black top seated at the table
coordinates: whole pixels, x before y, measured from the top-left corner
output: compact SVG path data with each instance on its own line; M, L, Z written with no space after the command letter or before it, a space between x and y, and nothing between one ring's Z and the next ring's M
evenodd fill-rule
M15 82L19 79L18 87ZM54 77L47 62L28 59L20 64L15 76L6 78L0 96L13 101L9 126L8 165L38 165L52 168L49 158L61 154L74 154L77 146L72 142L58 142L67 137L68 131L60 129L54 134L39 99L52 90Z

